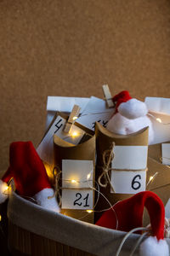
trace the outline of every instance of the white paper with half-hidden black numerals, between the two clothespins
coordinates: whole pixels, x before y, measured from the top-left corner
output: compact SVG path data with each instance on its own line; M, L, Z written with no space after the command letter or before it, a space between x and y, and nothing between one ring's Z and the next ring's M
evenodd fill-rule
M94 131L95 122L106 127L114 112L115 108L106 108L104 100L92 96L81 116L77 119L77 123Z

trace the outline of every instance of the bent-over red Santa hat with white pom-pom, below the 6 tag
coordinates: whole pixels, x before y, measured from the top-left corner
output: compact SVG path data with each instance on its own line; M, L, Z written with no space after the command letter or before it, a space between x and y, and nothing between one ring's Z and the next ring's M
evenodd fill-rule
M140 255L167 256L169 249L164 240L165 208L161 199L153 192L140 192L127 200L119 201L113 209L106 211L96 224L129 232L143 226L144 207L150 215L152 236L140 245Z

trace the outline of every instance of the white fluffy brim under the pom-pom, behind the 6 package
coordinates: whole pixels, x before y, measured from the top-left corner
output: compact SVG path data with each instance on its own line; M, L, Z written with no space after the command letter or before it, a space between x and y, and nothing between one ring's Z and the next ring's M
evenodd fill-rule
M140 117L138 119L127 119L120 113L116 113L109 120L107 129L111 132L127 135L139 131L144 127L149 126L149 144L154 140L154 130L150 118L148 116Z

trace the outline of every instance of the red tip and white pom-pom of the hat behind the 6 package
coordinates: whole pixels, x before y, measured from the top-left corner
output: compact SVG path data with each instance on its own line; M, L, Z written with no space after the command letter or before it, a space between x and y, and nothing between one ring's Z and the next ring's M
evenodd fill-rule
M121 113L127 119L137 119L148 113L146 104L132 98L127 90L122 90L112 101L116 103L116 113Z

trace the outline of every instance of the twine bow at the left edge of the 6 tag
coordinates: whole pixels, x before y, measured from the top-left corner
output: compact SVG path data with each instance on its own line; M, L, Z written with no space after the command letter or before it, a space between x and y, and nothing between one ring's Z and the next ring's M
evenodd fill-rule
M102 157L103 157L103 167L101 167L102 173L100 174L100 176L98 178L98 183L101 187L105 188L107 186L107 184L109 183L113 192L115 192L115 190L113 189L113 186L111 184L111 177L109 176L109 171L112 170L112 168L110 167L110 164L111 164L111 161L115 157L115 154L113 152L114 147L115 147L115 143L112 143L111 148L106 149L104 151L104 153L102 155ZM102 178L105 179L104 183L101 181Z

